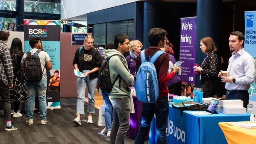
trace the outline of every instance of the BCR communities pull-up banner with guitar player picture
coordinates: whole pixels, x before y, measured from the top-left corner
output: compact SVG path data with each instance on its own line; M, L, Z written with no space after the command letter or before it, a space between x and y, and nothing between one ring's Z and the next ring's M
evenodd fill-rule
M47 109L60 109L60 21L24 20L25 53L32 49L29 40L35 37L41 39L52 64L52 70L47 71Z

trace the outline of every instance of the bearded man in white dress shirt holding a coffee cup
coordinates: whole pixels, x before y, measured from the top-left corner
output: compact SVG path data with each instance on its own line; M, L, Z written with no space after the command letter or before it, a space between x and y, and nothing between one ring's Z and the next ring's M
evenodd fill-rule
M228 75L221 77L221 82L226 82L226 100L243 100L244 107L249 103L248 89L254 82L255 63L253 57L244 51L244 34L231 32L229 38L232 56L227 68ZM221 72L219 73L221 76Z

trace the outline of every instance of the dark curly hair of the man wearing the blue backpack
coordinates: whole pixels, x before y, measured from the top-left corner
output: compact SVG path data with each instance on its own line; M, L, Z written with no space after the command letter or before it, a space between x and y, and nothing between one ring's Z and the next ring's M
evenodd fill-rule
M150 29L150 32L147 35L150 46L157 47L158 43L161 40L165 39L165 35L167 35L167 32L165 31L165 29L156 28L156 27L153 29Z

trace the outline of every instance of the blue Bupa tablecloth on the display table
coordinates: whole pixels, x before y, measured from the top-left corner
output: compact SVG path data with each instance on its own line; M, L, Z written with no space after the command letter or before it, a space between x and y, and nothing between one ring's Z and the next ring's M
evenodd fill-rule
M169 106L167 125L168 144L227 144L225 136L218 126L219 122L249 121L250 114L225 115L193 115ZM156 120L150 126L149 144L156 144Z

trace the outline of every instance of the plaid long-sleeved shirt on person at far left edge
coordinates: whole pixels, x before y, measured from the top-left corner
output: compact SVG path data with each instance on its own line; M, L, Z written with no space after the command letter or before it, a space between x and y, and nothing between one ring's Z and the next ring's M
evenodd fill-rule
M10 51L3 41L0 41L0 81L6 85L13 82L13 68Z

